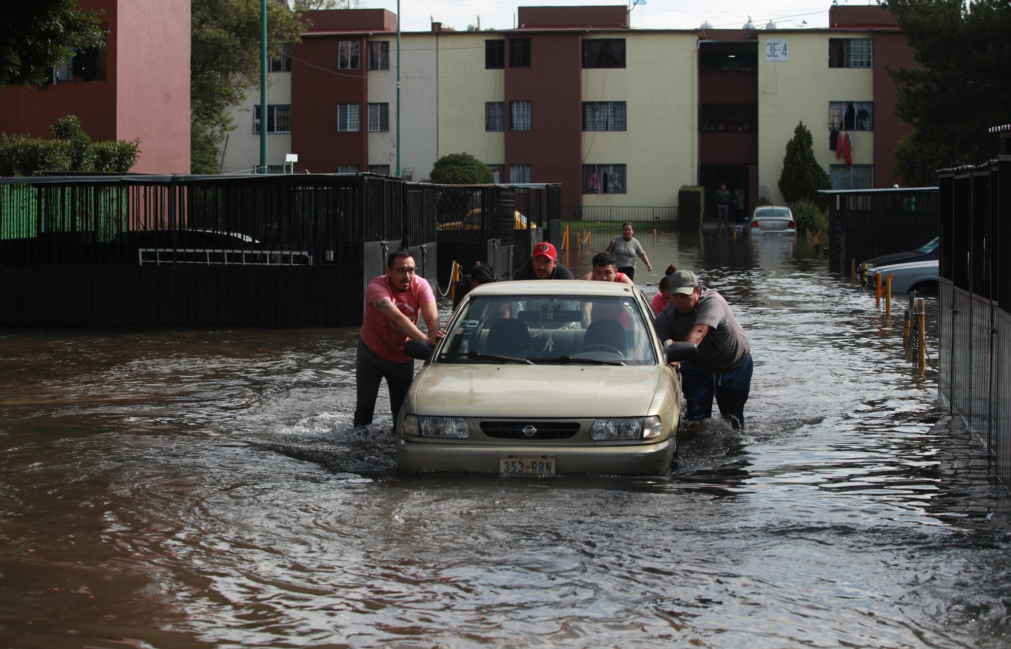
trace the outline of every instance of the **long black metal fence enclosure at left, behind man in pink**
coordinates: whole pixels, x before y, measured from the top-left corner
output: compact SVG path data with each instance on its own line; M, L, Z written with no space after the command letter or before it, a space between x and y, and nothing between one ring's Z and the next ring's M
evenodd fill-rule
M512 249L513 194L369 174L0 179L0 324L357 325L392 249L434 286L438 239ZM496 216L463 227L475 209Z

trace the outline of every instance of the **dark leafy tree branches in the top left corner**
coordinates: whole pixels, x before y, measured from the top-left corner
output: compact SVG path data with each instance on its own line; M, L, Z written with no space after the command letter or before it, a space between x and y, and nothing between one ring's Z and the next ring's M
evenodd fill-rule
M0 91L49 79L74 49L105 37L98 14L80 11L77 0L5 2L0 20Z

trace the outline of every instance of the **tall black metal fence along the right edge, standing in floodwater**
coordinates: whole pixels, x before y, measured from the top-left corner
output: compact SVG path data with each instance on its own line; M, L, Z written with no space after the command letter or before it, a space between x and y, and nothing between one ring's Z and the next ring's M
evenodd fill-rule
M1011 484L1011 155L938 185L940 392Z

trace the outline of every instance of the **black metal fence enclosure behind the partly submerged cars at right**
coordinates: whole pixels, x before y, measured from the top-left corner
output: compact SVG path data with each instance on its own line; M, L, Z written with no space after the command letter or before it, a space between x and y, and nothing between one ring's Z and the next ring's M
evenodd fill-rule
M937 236L937 189L833 190L828 195L829 266L913 250Z

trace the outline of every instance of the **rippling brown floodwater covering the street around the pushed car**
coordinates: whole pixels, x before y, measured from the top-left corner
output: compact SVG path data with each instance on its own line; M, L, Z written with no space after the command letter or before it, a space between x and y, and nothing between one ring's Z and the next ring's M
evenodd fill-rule
M639 283L699 271L755 360L747 430L662 477L397 475L355 329L0 331L0 646L1008 646L935 301L921 375L803 237L642 234Z

